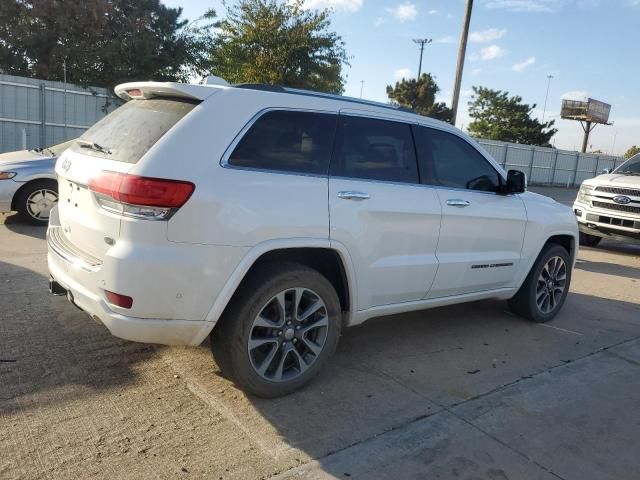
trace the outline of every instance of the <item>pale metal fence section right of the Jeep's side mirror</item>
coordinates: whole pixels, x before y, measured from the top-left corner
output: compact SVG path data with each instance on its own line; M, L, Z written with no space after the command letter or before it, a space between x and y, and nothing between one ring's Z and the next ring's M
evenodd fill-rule
M478 140L505 170L522 170L532 185L578 186L602 170L624 162L620 157L579 153L517 143Z

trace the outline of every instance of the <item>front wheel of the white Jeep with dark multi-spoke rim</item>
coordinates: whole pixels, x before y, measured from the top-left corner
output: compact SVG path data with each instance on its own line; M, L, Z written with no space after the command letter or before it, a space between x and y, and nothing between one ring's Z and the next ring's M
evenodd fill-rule
M564 304L571 284L571 258L560 245L547 244L529 275L509 300L509 308L533 322L548 322Z

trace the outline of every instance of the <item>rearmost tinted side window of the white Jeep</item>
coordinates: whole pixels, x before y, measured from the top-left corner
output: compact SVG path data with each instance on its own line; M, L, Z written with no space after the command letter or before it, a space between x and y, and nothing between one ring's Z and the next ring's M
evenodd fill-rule
M326 175L336 121L326 113L267 112L242 137L229 164Z

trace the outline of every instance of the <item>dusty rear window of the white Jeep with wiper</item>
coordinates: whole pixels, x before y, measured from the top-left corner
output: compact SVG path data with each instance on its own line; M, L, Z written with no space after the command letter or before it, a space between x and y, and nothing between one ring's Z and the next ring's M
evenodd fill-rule
M99 151L100 148L83 148L81 143L75 143L72 149L94 157L136 163L197 104L195 101L169 98L131 100L78 139L85 145L87 142L97 144L103 151Z

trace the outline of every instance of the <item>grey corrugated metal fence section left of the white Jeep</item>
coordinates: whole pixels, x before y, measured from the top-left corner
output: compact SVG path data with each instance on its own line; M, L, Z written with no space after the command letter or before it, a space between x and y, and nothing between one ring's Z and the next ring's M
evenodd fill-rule
M104 88L0 75L0 152L79 137L119 104Z

